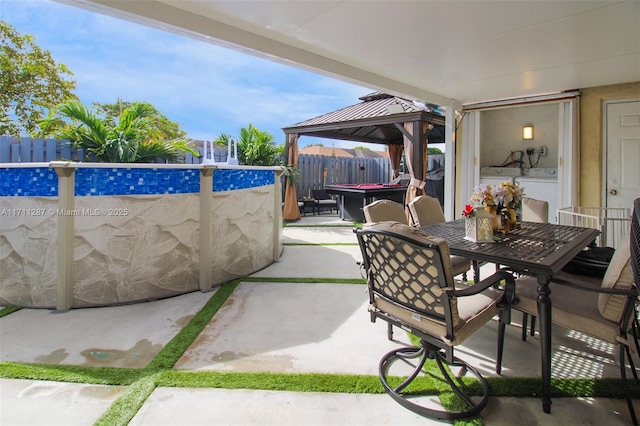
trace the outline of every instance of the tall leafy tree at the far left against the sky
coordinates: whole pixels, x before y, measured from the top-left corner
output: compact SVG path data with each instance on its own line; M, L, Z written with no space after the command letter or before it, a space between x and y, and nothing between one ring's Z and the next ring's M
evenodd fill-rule
M1 135L35 136L50 108L77 99L73 73L34 40L0 21Z

